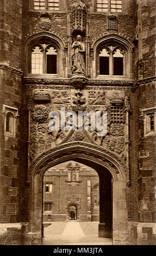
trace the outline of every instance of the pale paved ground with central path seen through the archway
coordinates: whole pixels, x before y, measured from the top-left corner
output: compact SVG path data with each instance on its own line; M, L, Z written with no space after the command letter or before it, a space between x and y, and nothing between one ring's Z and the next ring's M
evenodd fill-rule
M52 222L44 229L43 245L112 245L98 237L98 222Z

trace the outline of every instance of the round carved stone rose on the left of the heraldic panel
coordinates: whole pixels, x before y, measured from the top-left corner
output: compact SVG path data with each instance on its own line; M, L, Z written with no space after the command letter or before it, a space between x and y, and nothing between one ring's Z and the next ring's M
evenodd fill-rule
M32 111L32 118L37 123L44 123L48 118L48 109L45 105L36 105Z

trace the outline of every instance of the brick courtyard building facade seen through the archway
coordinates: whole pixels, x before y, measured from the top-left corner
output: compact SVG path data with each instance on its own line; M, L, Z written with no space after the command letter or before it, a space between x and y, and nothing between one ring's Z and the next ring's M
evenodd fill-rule
M43 224L71 220L70 208L76 207L74 219L99 221L99 178L95 170L79 165L78 176L70 178L66 162L49 169L43 178ZM52 184L51 191L46 185ZM88 193L89 190L89 193ZM46 208L46 204L51 209ZM49 210L49 211L48 211Z

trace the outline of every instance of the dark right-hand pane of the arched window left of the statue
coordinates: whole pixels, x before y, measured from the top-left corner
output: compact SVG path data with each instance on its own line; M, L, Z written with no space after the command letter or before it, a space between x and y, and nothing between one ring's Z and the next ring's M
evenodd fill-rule
M49 47L47 52L47 74L57 74L57 51Z

